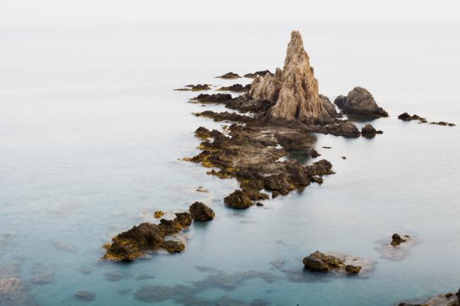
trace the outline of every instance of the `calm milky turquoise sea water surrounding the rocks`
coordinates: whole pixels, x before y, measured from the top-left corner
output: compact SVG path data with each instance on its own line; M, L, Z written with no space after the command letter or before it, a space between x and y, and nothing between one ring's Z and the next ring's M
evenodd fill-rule
M304 37L321 93L367 87L391 117L372 121L384 130L373 140L317 135L316 149L336 171L323 185L263 208L229 210L222 199L236 181L180 161L198 152L197 127L221 127L191 113L224 108L188 103L195 94L172 89L234 84L214 76L281 67L293 28ZM27 297L6 305L383 306L458 289L459 127L404 123L397 115L460 123L459 29L1 28L0 266L18 271L1 270L0 278L21 278ZM217 217L185 232L182 254L99 260L117 232L195 200ZM421 243L401 261L384 259L378 249L393 232ZM365 278L304 271L301 259L317 249L376 265ZM76 300L79 290L95 299Z

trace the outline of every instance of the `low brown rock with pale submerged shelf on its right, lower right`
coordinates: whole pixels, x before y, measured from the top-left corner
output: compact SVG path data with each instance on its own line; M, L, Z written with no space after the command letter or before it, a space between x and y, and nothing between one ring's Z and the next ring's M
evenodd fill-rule
M374 267L374 262L356 256L315 251L303 261L307 270L316 272L334 272L364 276Z

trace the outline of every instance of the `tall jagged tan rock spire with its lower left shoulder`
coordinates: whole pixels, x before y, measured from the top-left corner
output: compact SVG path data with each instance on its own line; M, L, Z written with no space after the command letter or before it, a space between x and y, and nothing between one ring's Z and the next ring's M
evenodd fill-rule
M272 118L327 123L333 117L327 105L330 102L318 94L318 81L314 77L314 69L310 66L299 31L291 33L282 73L277 73L275 77L255 79L249 96L256 100L273 99L271 101L276 103L269 111ZM335 108L332 108L332 112L335 112Z

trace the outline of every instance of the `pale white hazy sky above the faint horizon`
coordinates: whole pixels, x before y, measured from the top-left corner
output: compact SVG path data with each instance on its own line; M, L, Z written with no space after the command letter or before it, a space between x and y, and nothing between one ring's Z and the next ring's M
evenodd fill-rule
M460 0L0 0L0 26L158 21L459 20Z

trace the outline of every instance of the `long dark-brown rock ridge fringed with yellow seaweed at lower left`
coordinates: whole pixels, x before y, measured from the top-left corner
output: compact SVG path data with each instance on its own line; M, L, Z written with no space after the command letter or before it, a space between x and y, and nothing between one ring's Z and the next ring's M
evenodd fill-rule
M132 227L113 237L105 244L103 259L111 261L133 261L146 254L146 251L164 249L169 253L179 253L185 244L176 239L167 239L178 234L192 224L192 220L208 221L214 218L214 211L205 204L195 202L189 212L178 212L173 220L161 219L159 224L148 222Z

